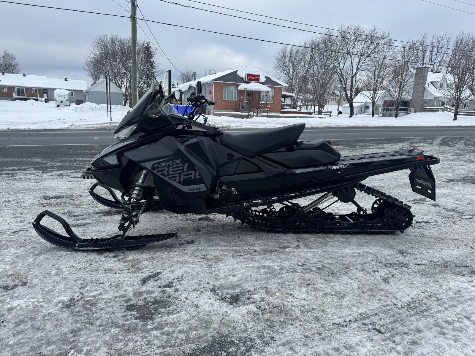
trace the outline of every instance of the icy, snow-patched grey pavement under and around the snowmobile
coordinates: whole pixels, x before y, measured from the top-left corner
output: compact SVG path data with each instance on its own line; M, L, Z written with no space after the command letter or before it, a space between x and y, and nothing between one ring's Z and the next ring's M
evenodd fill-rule
M116 233L118 213L79 179L91 146L2 148L0 355L474 355L475 140L334 144L440 156L437 202L411 192L405 170L364 181L413 206L404 234L267 234L222 215L152 212L137 232L179 237L74 252L31 222L50 209L80 236Z

